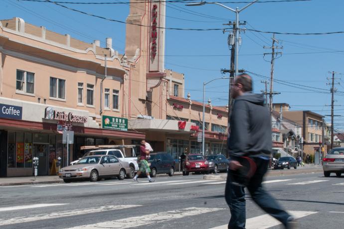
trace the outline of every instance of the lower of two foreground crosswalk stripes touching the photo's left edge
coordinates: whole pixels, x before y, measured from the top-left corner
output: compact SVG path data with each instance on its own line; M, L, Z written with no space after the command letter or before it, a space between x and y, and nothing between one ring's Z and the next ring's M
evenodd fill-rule
M119 209L125 209L125 208L135 208L135 207L141 207L141 206L142 205L111 205L111 206L102 206L98 208L76 209L72 211L40 214L40 215L30 216L26 218L17 217L17 218L11 218L8 220L1 219L0 226L27 223L27 222L40 221L40 220L48 220L48 219L61 218L61 217L84 215L84 214L90 214L90 213L99 213L99 212L119 210Z

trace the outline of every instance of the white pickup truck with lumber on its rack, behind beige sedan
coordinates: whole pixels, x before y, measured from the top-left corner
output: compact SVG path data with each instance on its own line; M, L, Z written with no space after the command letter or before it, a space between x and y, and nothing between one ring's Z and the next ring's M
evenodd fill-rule
M121 161L129 163L131 168L131 177L135 176L135 172L139 170L138 158L135 154L135 145L97 145L97 146L81 146L81 150L90 150L84 154L85 156L90 155L114 155ZM70 162L71 165L77 163L78 160Z

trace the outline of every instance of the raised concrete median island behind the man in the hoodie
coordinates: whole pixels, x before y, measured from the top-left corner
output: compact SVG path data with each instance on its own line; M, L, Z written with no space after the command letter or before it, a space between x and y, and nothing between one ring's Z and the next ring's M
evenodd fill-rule
M323 168L314 168L314 169L307 169L307 170L269 170L266 174L268 177L277 177L277 176L286 176L286 175L294 175L294 174L308 174L308 173L318 173L323 172ZM204 175L204 180L227 180L227 174L218 174L218 175Z

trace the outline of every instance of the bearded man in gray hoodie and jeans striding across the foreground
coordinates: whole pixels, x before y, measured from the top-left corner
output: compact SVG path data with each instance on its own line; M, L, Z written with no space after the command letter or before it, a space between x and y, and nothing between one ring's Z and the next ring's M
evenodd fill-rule
M251 158L257 169L247 181L246 188L256 204L279 220L287 229L295 228L295 221L284 211L276 200L262 187L271 155L271 116L264 106L261 94L252 93L252 79L247 74L239 75L231 86L235 99L230 117L228 150L230 154L229 173L240 169L240 157ZM244 187L231 181L227 176L225 198L231 218L228 229L245 229L246 206Z

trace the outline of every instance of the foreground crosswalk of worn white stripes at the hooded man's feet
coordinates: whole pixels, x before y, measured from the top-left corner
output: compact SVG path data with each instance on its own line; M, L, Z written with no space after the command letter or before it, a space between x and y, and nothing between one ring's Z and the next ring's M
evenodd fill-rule
M40 204L40 205L26 205L26 206L14 206L12 208L1 208L1 211L5 212L15 212L17 213L20 210L30 209L30 208L50 208L51 206L57 205L66 205L69 207L73 207L72 205L68 204ZM137 216L133 217L126 217L126 218L119 218L116 219L116 211L123 211L124 209L135 209L132 212L138 213ZM37 214L37 215L27 215L25 217L11 217L10 219L0 219L0 226L10 226L17 224L15 227L19 227L18 224L27 224L29 222L39 222L43 220L54 220L57 218L64 218L64 217L78 217L81 215L86 214L97 214L103 212L113 212L111 213L111 218L113 220L110 221L103 221L97 222L97 218L93 218L92 223L90 224L82 224L79 226L68 227L66 225L63 228L68 229L94 229L94 228L111 228L111 229L130 229L130 228L149 228L150 225L156 225L160 223L167 223L169 221L177 222L180 221L182 218L187 218L187 220L192 219L193 217L200 217L203 214L210 214L216 213L216 215L226 215L225 211L228 209L225 208L208 208L208 207L189 207L189 208L181 208L175 209L170 211L163 211L163 212L155 212L151 214L142 215L140 213L145 212L146 207L144 205L109 205L109 206L101 206L101 207L93 207L87 209L69 209L67 211L57 211L45 214ZM313 214L317 214L318 212L315 211L290 211L289 212L295 219L307 217ZM338 212L329 212L329 213L338 213ZM199 219L199 218L198 218ZM206 218L204 218L206 219ZM81 221L82 222L82 221ZM215 223L215 225L214 225ZM74 224L74 223L72 223ZM204 221L205 225L216 226L216 222L208 222ZM275 227L280 225L281 223L272 218L271 216L264 214L252 218L248 218L246 221L246 229L268 229L271 227ZM169 228L166 227L165 228ZM171 225L170 228L173 228ZM227 224L214 227L212 229L226 229Z

